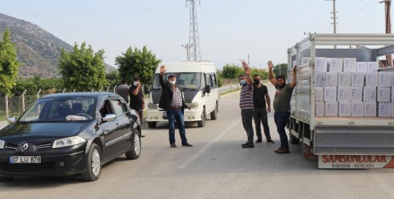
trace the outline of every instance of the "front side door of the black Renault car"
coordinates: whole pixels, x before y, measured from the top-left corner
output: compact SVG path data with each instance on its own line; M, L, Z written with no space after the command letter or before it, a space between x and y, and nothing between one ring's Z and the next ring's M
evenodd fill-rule
M108 116L109 114L116 115L110 99L104 100L101 104L100 114L101 117ZM100 127L104 137L104 159L108 159L116 155L120 150L119 142L121 141L122 133L118 128L116 118L113 121L102 121Z

